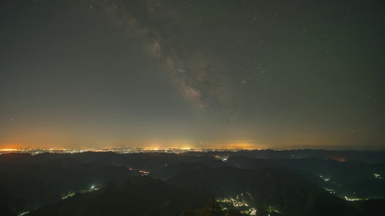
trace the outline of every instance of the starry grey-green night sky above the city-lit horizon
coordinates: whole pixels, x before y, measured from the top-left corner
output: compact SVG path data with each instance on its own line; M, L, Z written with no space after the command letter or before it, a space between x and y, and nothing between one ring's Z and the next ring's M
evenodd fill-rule
M384 8L2 0L0 148L383 149Z

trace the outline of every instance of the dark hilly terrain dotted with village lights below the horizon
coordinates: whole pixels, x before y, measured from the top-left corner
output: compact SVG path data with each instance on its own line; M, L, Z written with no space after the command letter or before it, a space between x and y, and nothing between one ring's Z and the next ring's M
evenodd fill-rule
M0 155L0 215L383 215L385 154ZM230 210L229 210L230 209Z

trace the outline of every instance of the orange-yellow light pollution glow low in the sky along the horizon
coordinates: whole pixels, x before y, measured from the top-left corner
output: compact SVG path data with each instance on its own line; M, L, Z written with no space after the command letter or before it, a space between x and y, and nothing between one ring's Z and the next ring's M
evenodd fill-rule
M32 136L19 136L17 138L0 139L0 148L2 149L18 149L18 148L101 148L110 146L132 147L132 148L254 148L254 149L318 149L325 150L343 150L343 149L359 149L358 146L341 145L338 142L330 142L325 137L304 136L299 139L294 137L275 138L272 140L235 140L229 137L228 140L187 140L187 139L99 139L94 136L73 136L65 137L62 134L51 134L44 136L41 133ZM226 138L226 137L224 137ZM291 140L290 138L293 138ZM338 148L336 148L338 147Z

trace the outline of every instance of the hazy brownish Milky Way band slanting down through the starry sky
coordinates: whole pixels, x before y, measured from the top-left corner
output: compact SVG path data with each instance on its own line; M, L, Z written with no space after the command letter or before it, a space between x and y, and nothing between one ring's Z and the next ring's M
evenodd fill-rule
M179 55L169 47L182 47L182 44L172 44L172 40L165 40L155 30L140 25L122 2L107 2L107 5L107 17L124 30L127 40L136 40L142 45L143 51L156 61L160 73L165 74L186 100L203 111L212 108L213 103L228 106L231 96L226 90L226 78L223 78L226 74L217 71L215 63L206 60L207 56L199 53ZM159 7L159 3L147 3L147 15L152 20L167 16L158 13ZM213 59L212 56L209 58Z

